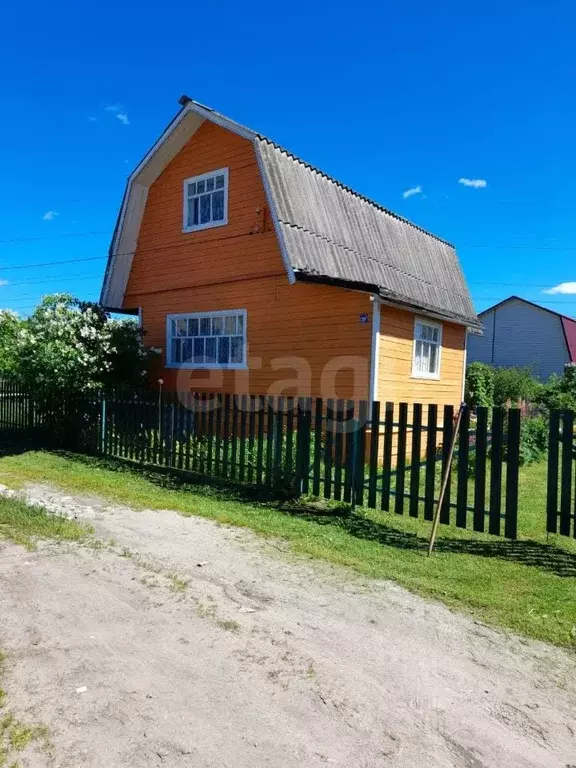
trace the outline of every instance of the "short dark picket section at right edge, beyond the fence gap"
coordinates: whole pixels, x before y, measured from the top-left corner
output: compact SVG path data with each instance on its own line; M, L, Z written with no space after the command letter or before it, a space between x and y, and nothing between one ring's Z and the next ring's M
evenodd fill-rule
M574 413L552 411L548 447L546 530L576 537Z

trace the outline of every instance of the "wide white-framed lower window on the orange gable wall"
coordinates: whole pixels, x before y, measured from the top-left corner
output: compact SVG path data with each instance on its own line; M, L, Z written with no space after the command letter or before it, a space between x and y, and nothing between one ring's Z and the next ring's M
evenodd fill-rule
M246 310L168 315L167 365L174 368L244 368Z

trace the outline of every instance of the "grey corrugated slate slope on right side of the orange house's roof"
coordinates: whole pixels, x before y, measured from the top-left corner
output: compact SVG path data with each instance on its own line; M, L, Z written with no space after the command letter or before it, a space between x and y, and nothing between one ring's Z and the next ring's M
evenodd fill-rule
M297 277L374 286L385 299L479 325L453 246L265 137L260 151Z

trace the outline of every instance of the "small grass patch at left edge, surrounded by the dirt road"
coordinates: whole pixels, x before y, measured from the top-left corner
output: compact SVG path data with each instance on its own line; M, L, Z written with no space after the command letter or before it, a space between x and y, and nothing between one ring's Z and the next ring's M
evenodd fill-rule
M0 538L10 539L27 549L35 548L37 538L77 541L89 531L87 526L50 514L42 507L0 496Z

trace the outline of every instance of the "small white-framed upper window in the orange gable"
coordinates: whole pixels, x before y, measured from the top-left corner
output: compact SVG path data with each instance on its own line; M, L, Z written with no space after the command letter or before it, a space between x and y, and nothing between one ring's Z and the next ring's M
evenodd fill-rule
M228 222L228 168L184 182L184 232Z

